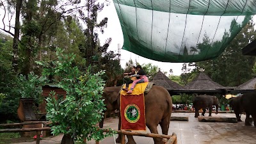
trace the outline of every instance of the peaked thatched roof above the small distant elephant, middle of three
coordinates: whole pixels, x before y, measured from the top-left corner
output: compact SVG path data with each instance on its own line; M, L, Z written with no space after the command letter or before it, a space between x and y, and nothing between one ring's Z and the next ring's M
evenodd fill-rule
M200 72L200 74L190 83L184 86L184 90L220 90L225 89L224 86L218 84L207 76L204 72Z

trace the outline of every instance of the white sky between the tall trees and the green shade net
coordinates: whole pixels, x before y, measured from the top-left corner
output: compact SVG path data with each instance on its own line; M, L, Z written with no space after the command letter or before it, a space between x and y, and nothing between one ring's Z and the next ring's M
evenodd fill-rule
M142 56L138 56L137 54L122 49L122 46L124 44L122 28L120 26L120 22L113 1L110 2L111 3L109 4L109 6L105 6L102 12L100 12L98 15L98 19L108 17L108 27L104 29L105 32L103 35L99 35L100 44L104 44L107 38L112 38L112 42L109 45L108 50L114 51L116 53L118 52L118 44L120 44L121 67L124 68L125 63L131 59L132 61L138 61L138 63L140 63L141 65L144 63L152 63L152 65L156 65L157 67L161 68L161 72L168 72L168 74L170 74L169 71L172 68L173 75L180 76L180 74L182 73L181 68L183 63L166 63L149 60L147 58L143 58Z

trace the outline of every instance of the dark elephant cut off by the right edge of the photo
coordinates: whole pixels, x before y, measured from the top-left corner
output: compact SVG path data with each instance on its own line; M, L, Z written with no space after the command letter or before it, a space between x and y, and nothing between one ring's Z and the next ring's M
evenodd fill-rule
M244 93L241 96L241 107L246 113L245 125L252 125L252 119L250 118L250 115L252 115L256 127L256 92Z

